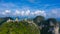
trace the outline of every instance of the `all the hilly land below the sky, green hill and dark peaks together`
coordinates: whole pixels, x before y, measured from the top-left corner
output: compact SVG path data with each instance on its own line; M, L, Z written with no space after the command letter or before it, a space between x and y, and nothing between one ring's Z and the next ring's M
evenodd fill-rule
M60 21L37 16L33 19L0 18L0 34L59 34Z

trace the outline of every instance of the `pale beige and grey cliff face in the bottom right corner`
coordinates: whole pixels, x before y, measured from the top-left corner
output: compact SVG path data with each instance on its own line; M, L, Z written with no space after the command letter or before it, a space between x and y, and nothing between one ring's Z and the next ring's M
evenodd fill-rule
M54 24L53 22L51 22L48 32L50 32L51 34L59 34L59 24Z

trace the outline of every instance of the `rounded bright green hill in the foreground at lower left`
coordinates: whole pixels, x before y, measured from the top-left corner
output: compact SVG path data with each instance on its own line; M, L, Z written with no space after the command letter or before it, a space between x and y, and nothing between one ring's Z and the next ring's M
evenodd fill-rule
M40 30L25 21L5 22L0 26L0 34L40 34Z

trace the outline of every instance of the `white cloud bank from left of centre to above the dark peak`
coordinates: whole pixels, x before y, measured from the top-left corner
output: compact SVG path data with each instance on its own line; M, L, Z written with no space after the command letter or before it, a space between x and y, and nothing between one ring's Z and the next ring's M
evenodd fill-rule
M31 12L30 10L26 10L26 11L18 11L16 10L14 15L20 15L20 16L30 16L30 15L41 15L41 16L46 16L45 11L41 11L41 10L35 10L34 12Z

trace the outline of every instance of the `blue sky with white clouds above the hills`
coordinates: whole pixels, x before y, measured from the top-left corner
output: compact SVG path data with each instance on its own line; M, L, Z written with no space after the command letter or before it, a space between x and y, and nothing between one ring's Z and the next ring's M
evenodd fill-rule
M0 17L60 18L60 0L0 0Z

